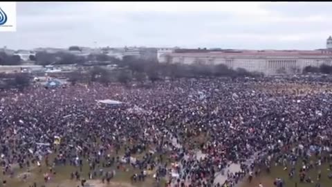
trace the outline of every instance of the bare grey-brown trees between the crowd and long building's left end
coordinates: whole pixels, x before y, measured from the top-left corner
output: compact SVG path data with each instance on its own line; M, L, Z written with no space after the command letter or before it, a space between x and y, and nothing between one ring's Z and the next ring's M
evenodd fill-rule
M225 64L208 65L201 62L194 64L159 63L155 60L142 60L135 57L124 57L114 62L117 69L94 66L89 71L78 70L70 74L68 80L77 82L121 82L131 81L144 83L158 80L175 80L178 78L214 78L214 77L259 77L263 73L249 72L246 69L230 69Z

